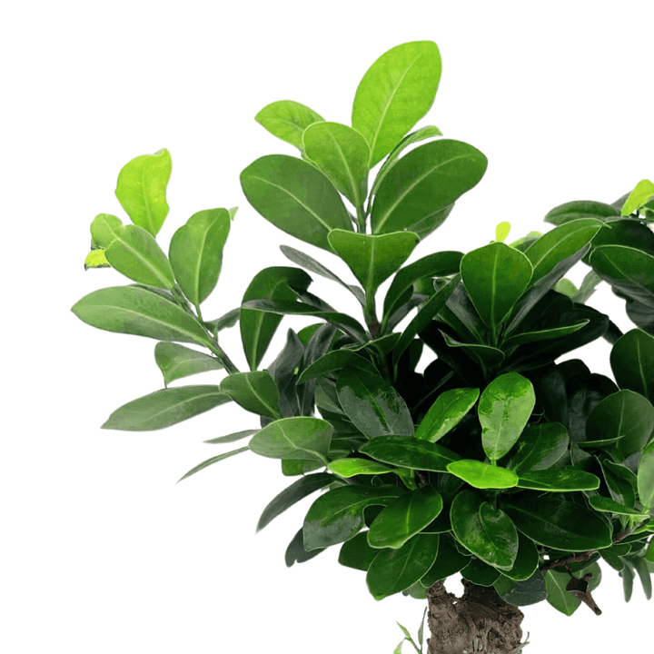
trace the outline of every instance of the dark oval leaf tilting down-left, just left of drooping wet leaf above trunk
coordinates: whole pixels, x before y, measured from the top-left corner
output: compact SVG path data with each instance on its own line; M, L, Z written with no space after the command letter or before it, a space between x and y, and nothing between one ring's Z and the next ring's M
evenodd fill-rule
M441 494L432 486L404 493L382 509L372 521L368 544L373 548L401 548L407 540L436 520L442 506Z

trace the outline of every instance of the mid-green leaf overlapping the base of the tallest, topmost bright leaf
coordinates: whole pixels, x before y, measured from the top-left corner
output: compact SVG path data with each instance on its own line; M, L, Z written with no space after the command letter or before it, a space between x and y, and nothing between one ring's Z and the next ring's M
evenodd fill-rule
M307 127L302 145L312 163L355 207L362 207L368 194L370 146L348 125L323 121Z

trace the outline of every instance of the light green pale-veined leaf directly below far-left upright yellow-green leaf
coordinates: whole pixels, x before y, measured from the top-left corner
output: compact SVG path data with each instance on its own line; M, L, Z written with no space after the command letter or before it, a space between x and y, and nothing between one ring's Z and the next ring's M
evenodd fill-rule
M121 227L104 251L106 260L115 270L134 282L172 289L171 265L154 236L136 225Z

